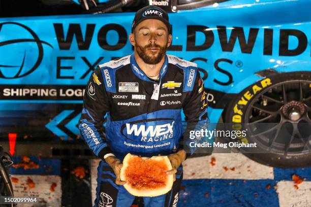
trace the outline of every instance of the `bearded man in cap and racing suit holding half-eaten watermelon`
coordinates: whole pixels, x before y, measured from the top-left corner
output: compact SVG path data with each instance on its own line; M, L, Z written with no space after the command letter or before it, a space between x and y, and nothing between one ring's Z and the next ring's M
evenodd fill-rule
M167 173L175 175L172 190L143 199L145 206L176 206L181 163L195 150L189 146L189 131L207 126L203 81L195 63L165 54L172 35L168 14L161 8L139 10L129 40L134 54L99 65L84 94L79 128L87 145L102 159L95 206L132 204L134 196L119 177L127 153L168 155L173 169ZM188 123L185 132L181 110Z

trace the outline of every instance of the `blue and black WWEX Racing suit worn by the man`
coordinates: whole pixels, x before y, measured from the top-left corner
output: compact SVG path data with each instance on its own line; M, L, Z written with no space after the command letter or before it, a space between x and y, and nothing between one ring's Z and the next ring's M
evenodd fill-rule
M197 65L166 54L159 75L159 82L149 79L132 54L99 65L87 83L79 129L89 148L102 159L95 206L130 206L134 200L114 183L114 172L104 157L114 154L122 161L127 153L150 157L179 149L189 156L195 151L190 147L189 131L207 127L207 101ZM185 131L181 110L187 122ZM144 197L145 206L176 206L181 180L182 166L172 190L163 196Z

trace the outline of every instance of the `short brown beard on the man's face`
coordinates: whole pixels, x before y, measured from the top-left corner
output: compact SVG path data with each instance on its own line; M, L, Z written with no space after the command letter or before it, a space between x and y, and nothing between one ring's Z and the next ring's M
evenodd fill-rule
M160 45L157 45L157 44L149 44L149 45L146 45L145 47L142 47L138 44L135 44L135 48L136 48L137 54L145 63L157 64L162 60L164 54L166 53L167 46L165 45L164 47L161 47ZM149 56L147 55L148 48L159 48L159 51L150 52L152 56ZM157 54L157 53L158 55L154 56L154 54Z

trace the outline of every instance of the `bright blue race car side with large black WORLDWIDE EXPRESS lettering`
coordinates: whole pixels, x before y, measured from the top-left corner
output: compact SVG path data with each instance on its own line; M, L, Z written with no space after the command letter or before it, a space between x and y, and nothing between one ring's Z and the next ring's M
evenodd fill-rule
M211 122L236 94L264 80L261 72L310 71L307 2L219 4L169 14L167 53L198 64ZM133 17L1 18L0 139L7 141L8 133L21 141L78 139L85 84L98 64L133 53Z

